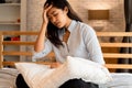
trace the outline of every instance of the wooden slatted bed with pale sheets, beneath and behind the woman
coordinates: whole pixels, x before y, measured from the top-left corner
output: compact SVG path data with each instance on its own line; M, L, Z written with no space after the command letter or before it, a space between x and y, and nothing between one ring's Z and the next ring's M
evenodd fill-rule
M15 67L9 68L7 66L14 66L16 62L4 62L4 55L20 55L20 56L32 56L31 52L12 52L4 51L3 46L6 45L26 45L32 46L34 42L23 42L23 41L3 41L4 35L37 35L37 32L0 32L0 88L15 88L15 77L19 72ZM97 32L98 37L120 37L120 36L132 36L132 32ZM131 64L117 64L112 61L117 58L132 58L132 54L123 54L113 51L107 51L106 48L121 48L121 47L132 47L132 43L119 43L119 42L100 42L100 45L103 51L103 57L107 61L106 67L110 69L110 74L113 78L113 81L99 85L100 88L132 88L132 74L131 73L116 73L114 69L132 69ZM40 63L40 62L38 62ZM42 64L42 62L41 62ZM45 63L44 63L45 64ZM46 63L47 64L47 63ZM48 63L52 64L52 63Z

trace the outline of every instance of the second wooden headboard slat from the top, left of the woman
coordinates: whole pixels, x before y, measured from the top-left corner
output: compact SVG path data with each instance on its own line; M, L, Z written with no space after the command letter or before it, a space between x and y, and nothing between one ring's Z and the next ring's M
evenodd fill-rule
M35 42L4 41L3 45L34 45Z

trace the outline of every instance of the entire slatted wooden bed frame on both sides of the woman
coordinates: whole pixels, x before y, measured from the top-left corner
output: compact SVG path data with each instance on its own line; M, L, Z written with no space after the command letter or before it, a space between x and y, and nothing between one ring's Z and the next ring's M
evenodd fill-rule
M3 66L7 65L11 65L13 66L15 62L3 62L3 56L4 55L19 55L19 56L32 56L32 52L21 52L21 51L4 51L3 46L6 45L34 45L34 42L31 41L3 41L3 37L6 35L14 35L14 36L22 36L22 35L37 35L37 32L18 32L18 31L11 31L11 32L7 32L7 31L2 31L0 32L0 68L2 68ZM98 37L122 37L122 36L132 36L132 32L97 32L97 36ZM122 68L122 69L132 69L132 65L130 64L117 64L117 59L120 58L132 58L132 54L124 54L124 53L119 53L119 50L121 47L132 47L132 43L101 43L100 45L102 47L102 52L103 52L103 57L105 61L107 62L106 66L109 69L117 69L117 68ZM106 52L107 51L107 52ZM116 61L114 63L112 61ZM40 63L40 62L38 62ZM44 63L44 64L48 64L48 63Z

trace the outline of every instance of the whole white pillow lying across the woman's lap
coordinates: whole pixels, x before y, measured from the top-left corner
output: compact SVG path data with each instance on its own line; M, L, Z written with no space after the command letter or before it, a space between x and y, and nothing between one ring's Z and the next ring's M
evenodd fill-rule
M79 57L68 56L62 66L54 69L29 63L18 63L15 66L30 88L58 88L73 78L81 78L95 84L106 84L112 79L105 66Z

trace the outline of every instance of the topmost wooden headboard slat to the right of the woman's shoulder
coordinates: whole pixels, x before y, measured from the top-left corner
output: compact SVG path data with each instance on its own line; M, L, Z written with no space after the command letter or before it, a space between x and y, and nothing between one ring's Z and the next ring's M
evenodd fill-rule
M132 32L97 32L97 36L132 36Z

